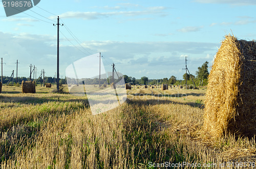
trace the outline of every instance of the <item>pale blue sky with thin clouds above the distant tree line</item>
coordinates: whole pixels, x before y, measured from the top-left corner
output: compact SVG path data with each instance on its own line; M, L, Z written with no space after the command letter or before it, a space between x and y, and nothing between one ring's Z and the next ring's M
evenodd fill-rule
M0 2L1 3L1 2ZM256 38L256 1L82 1L41 0L23 13L7 17L0 7L0 58L3 76L11 76L18 60L18 76L37 77L41 70L54 77L57 69L57 16L59 77L66 68L89 55L101 53L105 71L116 70L140 79L182 79L187 67L195 75L204 62L210 66L224 40ZM89 63L87 63L89 64Z

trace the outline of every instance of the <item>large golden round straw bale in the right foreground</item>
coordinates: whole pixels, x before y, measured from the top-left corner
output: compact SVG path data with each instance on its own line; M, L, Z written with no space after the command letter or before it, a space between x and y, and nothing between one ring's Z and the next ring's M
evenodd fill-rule
M256 134L256 42L227 35L208 78L204 129L213 137L224 133Z

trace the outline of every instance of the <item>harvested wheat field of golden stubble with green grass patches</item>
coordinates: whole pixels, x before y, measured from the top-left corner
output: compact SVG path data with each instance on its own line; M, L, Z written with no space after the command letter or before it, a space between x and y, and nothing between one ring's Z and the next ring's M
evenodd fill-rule
M203 130L205 90L137 89L92 115L85 95L0 94L1 168L230 168L255 166L255 140Z

